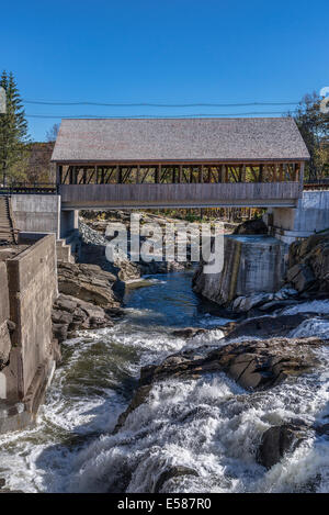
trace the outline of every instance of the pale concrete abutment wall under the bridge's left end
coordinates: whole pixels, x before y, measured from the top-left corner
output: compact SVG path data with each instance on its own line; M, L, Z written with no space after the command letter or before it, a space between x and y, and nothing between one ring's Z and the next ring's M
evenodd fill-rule
M13 194L11 203L18 229L60 237L60 195Z

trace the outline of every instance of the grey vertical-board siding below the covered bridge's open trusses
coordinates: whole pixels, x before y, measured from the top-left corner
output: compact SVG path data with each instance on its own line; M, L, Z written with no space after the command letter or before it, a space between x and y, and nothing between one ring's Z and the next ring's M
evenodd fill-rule
M231 182L180 184L61 184L63 206L97 205L293 205L299 182Z

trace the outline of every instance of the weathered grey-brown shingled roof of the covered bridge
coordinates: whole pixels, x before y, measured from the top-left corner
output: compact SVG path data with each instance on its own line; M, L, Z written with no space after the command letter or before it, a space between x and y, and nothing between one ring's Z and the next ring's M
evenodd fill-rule
M291 117L63 120L57 163L306 160Z

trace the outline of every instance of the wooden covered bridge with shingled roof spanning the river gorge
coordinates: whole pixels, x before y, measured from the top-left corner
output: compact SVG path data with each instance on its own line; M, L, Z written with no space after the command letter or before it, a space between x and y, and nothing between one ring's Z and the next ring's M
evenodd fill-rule
M295 206L307 148L291 117L64 120L63 210Z

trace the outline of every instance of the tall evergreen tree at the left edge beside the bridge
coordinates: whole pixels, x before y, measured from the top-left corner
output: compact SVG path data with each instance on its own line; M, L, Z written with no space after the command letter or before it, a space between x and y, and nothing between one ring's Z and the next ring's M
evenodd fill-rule
M26 161L26 143L29 142L27 122L22 100L12 72L3 71L0 87L5 91L5 113L0 114L0 178L3 186L9 177L20 177L20 170ZM1 179L0 179L1 180Z

